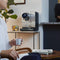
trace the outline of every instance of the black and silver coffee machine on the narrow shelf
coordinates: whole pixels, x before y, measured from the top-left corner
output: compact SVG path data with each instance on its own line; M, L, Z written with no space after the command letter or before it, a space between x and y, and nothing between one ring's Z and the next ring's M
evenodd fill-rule
M39 13L34 14L23 13L22 18L25 24L20 31L38 31L39 29Z

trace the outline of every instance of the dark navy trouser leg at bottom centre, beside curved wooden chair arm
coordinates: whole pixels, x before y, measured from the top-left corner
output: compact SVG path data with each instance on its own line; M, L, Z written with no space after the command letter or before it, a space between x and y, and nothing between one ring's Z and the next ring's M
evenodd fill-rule
M41 60L39 53L29 53L28 56L24 56L21 60Z

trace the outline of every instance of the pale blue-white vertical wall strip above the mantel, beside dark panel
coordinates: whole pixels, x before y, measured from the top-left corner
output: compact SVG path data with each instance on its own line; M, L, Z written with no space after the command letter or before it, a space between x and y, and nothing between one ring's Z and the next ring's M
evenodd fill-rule
M41 22L49 22L49 0L42 0Z

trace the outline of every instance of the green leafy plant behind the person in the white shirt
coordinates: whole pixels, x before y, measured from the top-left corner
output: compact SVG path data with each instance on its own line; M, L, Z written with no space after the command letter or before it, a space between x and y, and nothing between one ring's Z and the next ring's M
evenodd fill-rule
M9 9L9 6L10 6L11 4L15 4L15 3L14 3L14 0L8 0L8 4L7 4L7 8L8 8L8 9L0 10L0 13L1 13L1 15L5 18L5 21L6 21L6 19L8 19L9 17L10 17L10 18L13 18L13 19L16 19L16 18L17 18L17 15L16 15L16 14L13 14L13 13L14 13L13 9Z

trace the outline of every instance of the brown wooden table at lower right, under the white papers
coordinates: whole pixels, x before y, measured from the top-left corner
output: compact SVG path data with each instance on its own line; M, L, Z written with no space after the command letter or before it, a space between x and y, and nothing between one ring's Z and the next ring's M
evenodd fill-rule
M52 54L49 55L43 55L41 54L41 58L42 60L56 60L55 58L60 58L60 51L54 51ZM60 60L60 59L59 59Z

